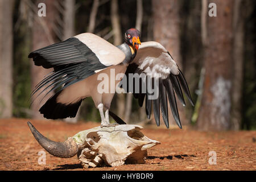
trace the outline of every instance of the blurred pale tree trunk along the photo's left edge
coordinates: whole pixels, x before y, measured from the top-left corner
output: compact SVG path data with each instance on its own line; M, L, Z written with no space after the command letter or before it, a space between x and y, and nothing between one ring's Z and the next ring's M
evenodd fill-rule
M0 118L13 115L13 5L0 1Z

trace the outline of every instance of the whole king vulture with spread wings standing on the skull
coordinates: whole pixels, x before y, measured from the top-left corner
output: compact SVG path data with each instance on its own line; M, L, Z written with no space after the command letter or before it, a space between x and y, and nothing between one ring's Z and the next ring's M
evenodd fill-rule
M181 103L185 105L181 90L183 89L189 102L193 105L185 77L170 53L160 43L141 43L140 40L141 32L135 28L126 31L125 43L120 46L113 46L97 35L84 33L31 52L28 57L33 59L36 66L53 68L53 71L32 92L35 94L42 90L39 93L41 94L49 90L46 95L49 92L55 92L40 107L40 113L47 119L76 117L82 100L92 97L95 106L100 111L101 127L115 126L117 123L125 124L121 118L109 111L114 93L98 92L98 85L102 81L98 77L103 73L109 76L109 83L113 84L114 82L114 85L118 85L125 79L115 80L115 76L114 78L110 76L111 71L114 70L115 75L123 73L126 76L127 85L119 86L128 92L129 86L134 85L134 78L131 79L129 74L142 75L143 73L146 78L140 78L139 85L136 86L139 88L146 86L146 92L142 92L140 89L133 95L138 99L140 106L145 100L147 117L150 118L152 107L156 124L159 126L161 109L163 121L168 128L168 100L172 115L181 128L175 92ZM152 87L154 86L158 92L158 97L153 100L150 98L151 93L147 87L150 82L147 80L151 80ZM158 85L154 85L155 80ZM110 88L112 85L108 86ZM117 123L109 123L109 115Z

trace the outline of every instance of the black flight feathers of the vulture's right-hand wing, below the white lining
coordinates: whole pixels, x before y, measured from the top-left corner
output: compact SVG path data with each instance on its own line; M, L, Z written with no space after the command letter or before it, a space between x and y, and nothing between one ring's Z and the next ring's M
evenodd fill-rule
M132 63L128 66L127 70L126 70L126 78L127 78L127 87L124 88L126 90L126 92L129 91L129 86L131 86L131 84L133 84L133 88L135 87L134 85L134 79L133 80L129 80L129 73L143 73L142 70L138 70L138 65L135 63ZM184 97L183 97L183 93L181 88L183 88L186 96L188 96L188 98L190 96L189 93L189 89L187 86L187 82L185 81L184 76L182 75L181 71L179 70L179 75L172 75L172 73L170 73L170 76L167 77L166 79L162 80L162 78L159 78L159 87L158 88L154 88L154 85L147 85L147 84L154 84L154 78L151 78L150 76L147 76L147 79L145 79L145 81L140 80L140 92L139 93L133 93L134 98L138 98L139 101L139 106L143 105L143 101L145 100L146 104L146 115L147 118L150 119L150 115L151 115L151 105L152 109L153 109L153 113L155 116L155 121L156 121L156 125L160 125L160 108L161 108L161 112L162 112L162 117L163 117L163 121L166 125L166 127L169 127L169 121L168 121L168 104L167 104L167 98L169 100L170 103L170 107L171 107L171 111L172 111L172 115L174 116L175 122L177 123L177 125L182 128L181 126L181 122L180 122L180 117L179 117L179 111L177 110L177 103L176 103L176 97L175 97L175 92L177 94L177 97L179 98L179 100L181 101L181 103L183 105L185 105L185 101L184 101ZM140 78L141 79L141 78ZM147 82L148 79L152 79L152 82ZM137 85L138 86L138 85ZM146 93L142 93L142 87L146 86ZM121 85L122 87L122 85ZM151 95L150 93L148 93L148 88L154 88L154 90L159 92L159 97L156 100L150 100L149 96ZM133 92L135 90L133 89ZM175 91L175 92L174 92ZM192 101L192 100L191 100Z

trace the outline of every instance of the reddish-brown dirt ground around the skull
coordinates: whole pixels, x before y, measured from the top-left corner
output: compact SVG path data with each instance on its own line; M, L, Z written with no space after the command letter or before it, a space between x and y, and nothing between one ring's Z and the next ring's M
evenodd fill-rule
M27 126L28 119L0 119L0 170L255 170L256 131L201 132L145 126L142 133L161 142L148 150L145 164L83 169L77 156L61 159L46 152L46 165L39 165L43 148ZM49 139L64 141L79 131L96 127L93 122L30 122ZM216 151L217 164L210 165L209 151Z

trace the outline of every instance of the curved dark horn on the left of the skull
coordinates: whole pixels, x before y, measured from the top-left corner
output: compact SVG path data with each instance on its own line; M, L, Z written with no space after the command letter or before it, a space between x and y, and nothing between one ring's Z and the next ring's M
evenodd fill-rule
M59 158L71 158L77 154L79 147L71 137L65 140L65 142L54 142L40 134L29 121L27 122L27 125L30 127L31 132L38 143L50 154Z

